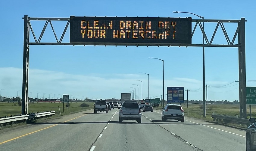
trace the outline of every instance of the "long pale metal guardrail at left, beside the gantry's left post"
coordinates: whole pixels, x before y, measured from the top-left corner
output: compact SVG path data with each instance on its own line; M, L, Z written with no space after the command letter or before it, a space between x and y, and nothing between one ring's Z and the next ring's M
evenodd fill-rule
M55 114L55 111L47 111L47 112L41 112L41 113L32 113L28 115L4 117L4 118L0 118L0 124L11 123L19 120L28 120L28 119L44 117L44 116L49 116L54 114Z

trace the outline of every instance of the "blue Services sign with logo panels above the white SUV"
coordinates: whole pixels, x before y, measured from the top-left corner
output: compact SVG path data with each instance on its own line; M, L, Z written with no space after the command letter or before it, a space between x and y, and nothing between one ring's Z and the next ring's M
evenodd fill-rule
M184 87L167 87L167 103L184 103Z

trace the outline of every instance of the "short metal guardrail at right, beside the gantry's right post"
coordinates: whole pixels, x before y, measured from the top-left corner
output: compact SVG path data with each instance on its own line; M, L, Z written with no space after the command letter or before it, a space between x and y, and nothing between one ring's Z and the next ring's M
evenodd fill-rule
M244 123L244 124L251 124L249 119L240 118L240 117L232 117L227 115L218 115L218 114L212 114L211 117L213 118L213 121L233 121L238 123Z

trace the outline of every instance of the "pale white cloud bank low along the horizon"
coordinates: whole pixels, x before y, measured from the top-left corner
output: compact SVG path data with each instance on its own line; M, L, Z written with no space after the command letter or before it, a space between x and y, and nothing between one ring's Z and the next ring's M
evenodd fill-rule
M0 68L0 89L2 90L2 96L16 96L18 90L22 90L22 69L20 68ZM135 79L143 81L143 98L148 96L148 78L142 74L89 74L89 75L73 75L63 72L46 71L46 70L29 70L29 94L32 97L37 96L37 92L40 92L39 98L45 94L45 97L52 93L51 98L58 94L70 94L79 99L89 97L90 99L107 99L117 98L120 99L120 93L129 93L130 87L136 88L136 94L138 93L137 86L139 85L139 98L141 98L141 82L134 81ZM162 79L156 79L150 77L150 96L163 95L163 81ZM208 84L228 84L226 81L207 81ZM197 90L202 87L202 81L190 78L165 78L164 81L164 94L166 94L166 87L184 87L184 89ZM222 100L222 99L238 99L237 90L232 90L235 87L227 89L211 89L208 88L208 99ZM201 90L201 91L200 91ZM202 89L199 92L189 92L189 99L202 99ZM231 91L228 91L231 90ZM212 91L212 93L210 92ZM225 93L214 93L214 92ZM21 92L19 93L21 96ZM166 95L165 95L166 96ZM186 94L184 95L186 99ZM166 97L165 97L166 98Z

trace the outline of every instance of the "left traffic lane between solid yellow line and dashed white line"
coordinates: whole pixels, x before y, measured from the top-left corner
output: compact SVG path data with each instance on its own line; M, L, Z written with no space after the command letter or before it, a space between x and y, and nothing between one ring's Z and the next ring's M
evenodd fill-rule
M112 111L112 110L111 110ZM100 135L113 113L86 113L74 120L42 122L37 124L58 124L42 131L9 141L0 145L1 150L89 150L91 144Z

